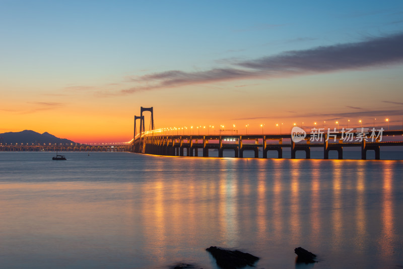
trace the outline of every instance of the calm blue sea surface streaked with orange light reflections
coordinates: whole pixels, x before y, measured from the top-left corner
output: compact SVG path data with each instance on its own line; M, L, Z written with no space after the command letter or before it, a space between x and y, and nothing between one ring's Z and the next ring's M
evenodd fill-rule
M403 267L400 160L53 155L0 152L2 268L217 268L209 246L256 268Z

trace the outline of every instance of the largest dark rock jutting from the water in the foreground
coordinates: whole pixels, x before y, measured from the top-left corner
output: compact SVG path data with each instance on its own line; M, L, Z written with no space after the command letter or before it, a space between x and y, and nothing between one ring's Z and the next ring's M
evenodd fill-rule
M216 259L217 265L223 269L236 269L246 265L253 266L259 258L239 250L227 250L218 247L206 249Z

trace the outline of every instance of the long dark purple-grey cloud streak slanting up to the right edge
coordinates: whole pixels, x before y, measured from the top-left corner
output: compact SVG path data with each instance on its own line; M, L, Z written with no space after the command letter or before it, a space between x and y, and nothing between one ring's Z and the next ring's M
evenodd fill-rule
M403 63L403 33L367 38L361 42L292 50L254 60L227 60L227 68L184 72L170 70L130 77L137 86L123 89L120 94L252 78L277 78L319 74L341 70L360 70Z

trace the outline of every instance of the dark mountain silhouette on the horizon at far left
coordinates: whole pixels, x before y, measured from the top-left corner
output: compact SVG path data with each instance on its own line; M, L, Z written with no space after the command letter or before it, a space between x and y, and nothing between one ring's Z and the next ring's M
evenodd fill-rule
M54 135L49 134L48 132L44 132L43 134L31 131L24 130L22 132L8 132L0 134L0 141L3 143L11 144L11 143L59 143L59 144L70 144L75 143L72 140L65 138L58 138Z

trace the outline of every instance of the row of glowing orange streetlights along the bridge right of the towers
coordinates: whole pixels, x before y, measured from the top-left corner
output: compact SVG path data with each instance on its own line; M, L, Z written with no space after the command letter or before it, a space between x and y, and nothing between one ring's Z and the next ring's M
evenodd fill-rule
M376 121L376 118L374 118L374 121L373 121L374 127L375 127L375 121ZM360 123L360 126L362 128L362 120L359 120L358 122ZM386 119L385 122L387 123L387 127L388 127L388 130L389 130L389 119ZM322 128L324 128L325 123L326 123L326 121L323 121ZM350 120L347 120L347 128L349 128L349 123L350 123ZM303 124L304 124L304 122L301 123L301 128L303 127ZM317 122L314 122L313 124L314 124L314 126L316 128ZM337 129L339 130L339 121L336 121L335 124L337 124ZM282 126L283 125L284 125L284 123L276 123L276 127L280 127L280 133L282 133ZM264 134L264 126L265 126L264 123L260 124L262 134ZM297 124L294 123L293 126L297 126ZM233 124L232 127L233 127L232 129L226 130L226 129L224 129L225 128L224 125L220 125L220 130L219 130L220 134L221 134L222 131L232 131L232 132L236 131L236 132L238 132L238 130L235 129L235 127L236 127L235 124ZM249 124L246 124L245 127L246 127L246 134L248 134ZM179 135L180 132L182 133L182 135L184 135L186 130L188 130L187 133L188 133L188 135L190 135L191 132L192 132L192 134L194 134L194 129L197 129L197 134L200 135L200 129L206 130L206 128L207 128L207 134L209 135L210 128L214 129L214 126L209 125L209 126L206 127L206 126L199 125L199 126L195 126L195 127L190 126L189 128L188 127L160 128L160 129L156 129L156 130L143 132L142 136L150 134L150 133L163 133L164 135L169 135L171 132L172 132L172 135L174 135L175 131L176 131L176 135ZM138 134L138 136L139 135L140 134ZM130 143L130 142L127 142L127 143Z

